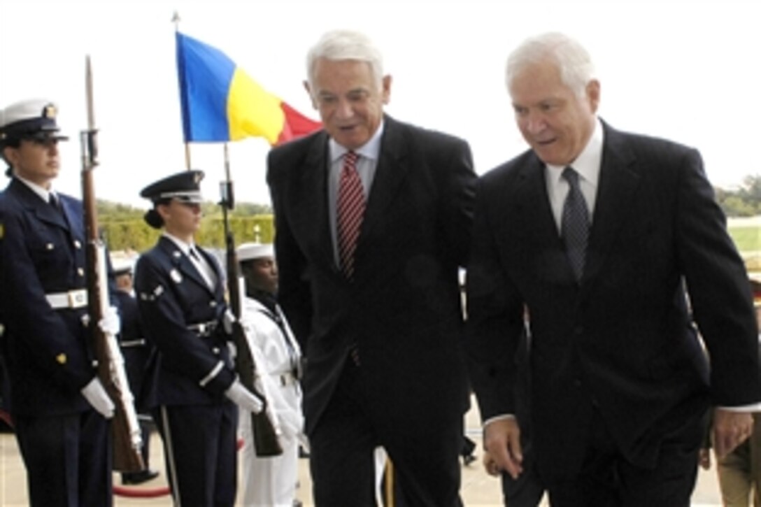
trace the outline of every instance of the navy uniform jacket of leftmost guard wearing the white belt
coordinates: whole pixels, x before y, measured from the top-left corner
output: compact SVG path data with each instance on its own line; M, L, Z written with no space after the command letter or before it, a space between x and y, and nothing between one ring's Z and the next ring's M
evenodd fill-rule
M77 199L59 194L65 218L16 178L0 194L0 322L11 411L77 413L95 376L81 317L53 310L45 295L85 288L84 223Z

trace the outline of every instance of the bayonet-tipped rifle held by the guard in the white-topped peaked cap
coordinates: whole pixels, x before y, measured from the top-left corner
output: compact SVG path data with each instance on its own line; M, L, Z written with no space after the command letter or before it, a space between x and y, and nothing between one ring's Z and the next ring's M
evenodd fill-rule
M116 336L104 333L98 323L108 311L108 276L106 248L100 240L97 226L95 187L92 172L97 166L97 145L94 128L92 72L88 56L85 70L88 100L88 130L81 132L82 149L82 202L84 205L84 228L87 235L85 250L88 282L89 329L95 357L97 375L114 404L113 422L113 469L123 472L145 470L141 448L142 436L135 411L134 398L124 371L124 358L116 343Z

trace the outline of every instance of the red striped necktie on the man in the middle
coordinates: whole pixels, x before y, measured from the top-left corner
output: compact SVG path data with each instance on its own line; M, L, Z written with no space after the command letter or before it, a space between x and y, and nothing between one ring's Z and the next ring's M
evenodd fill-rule
M343 167L336 202L336 232L341 270L346 278L354 274L354 251L357 247L359 229L365 215L365 193L357 174L359 155L348 151L343 156Z

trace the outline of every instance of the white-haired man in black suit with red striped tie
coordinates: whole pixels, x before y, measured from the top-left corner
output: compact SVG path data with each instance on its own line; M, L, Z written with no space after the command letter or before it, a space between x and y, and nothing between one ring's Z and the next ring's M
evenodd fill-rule
M359 33L326 33L307 72L325 129L272 150L268 181L315 502L374 505L383 445L406 504L460 505L470 148L384 115L391 78Z

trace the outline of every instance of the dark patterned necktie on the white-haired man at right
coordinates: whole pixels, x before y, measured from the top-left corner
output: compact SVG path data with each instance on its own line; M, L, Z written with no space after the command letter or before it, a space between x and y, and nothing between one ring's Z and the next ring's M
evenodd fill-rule
M565 243L565 253L571 263L576 281L584 273L589 238L589 212L587 202L578 184L578 173L572 167L565 167L562 177L568 181L568 196L563 203L563 215L560 234Z

